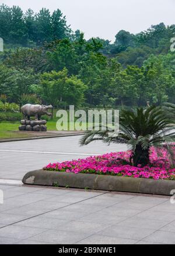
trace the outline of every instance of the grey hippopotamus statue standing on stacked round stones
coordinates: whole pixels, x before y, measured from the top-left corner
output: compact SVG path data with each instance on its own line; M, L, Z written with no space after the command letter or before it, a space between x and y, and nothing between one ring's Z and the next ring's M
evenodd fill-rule
M30 120L30 116L34 116L36 120L40 120L42 115L51 116L52 114L47 110L52 108L52 105L45 106L26 104L22 106L21 112L23 113L24 119Z

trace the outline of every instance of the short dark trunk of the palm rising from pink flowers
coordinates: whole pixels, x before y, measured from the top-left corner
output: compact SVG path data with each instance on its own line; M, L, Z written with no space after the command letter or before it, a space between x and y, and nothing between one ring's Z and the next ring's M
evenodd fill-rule
M141 144L136 145L135 151L132 154L134 166L141 165L141 167L149 164L149 148L143 150Z

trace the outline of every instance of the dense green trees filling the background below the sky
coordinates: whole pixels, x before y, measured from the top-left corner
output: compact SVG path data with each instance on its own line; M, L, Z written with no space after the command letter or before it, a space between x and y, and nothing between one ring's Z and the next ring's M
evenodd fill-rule
M175 25L160 23L139 34L121 30L114 43L87 41L79 30L72 32L59 9L23 13L1 5L0 95L19 105L60 108L174 103L174 34Z

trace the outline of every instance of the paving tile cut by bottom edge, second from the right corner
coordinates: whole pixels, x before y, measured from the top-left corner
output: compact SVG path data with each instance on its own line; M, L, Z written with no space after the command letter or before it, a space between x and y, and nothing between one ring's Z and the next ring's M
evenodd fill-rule
M135 244L138 240L119 238L119 237L108 237L94 234L88 238L79 241L76 244Z

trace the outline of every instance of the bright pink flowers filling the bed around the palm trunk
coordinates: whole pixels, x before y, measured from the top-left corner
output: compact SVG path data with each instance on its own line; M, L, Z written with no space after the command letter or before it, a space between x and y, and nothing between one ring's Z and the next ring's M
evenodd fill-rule
M162 149L157 152L155 148L150 148L150 165L145 167L134 167L125 164L125 162L129 161L130 156L131 151L108 153L84 159L50 163L43 169L47 171L74 172L75 174L88 173L175 180L175 168L170 167L170 160L166 150Z

